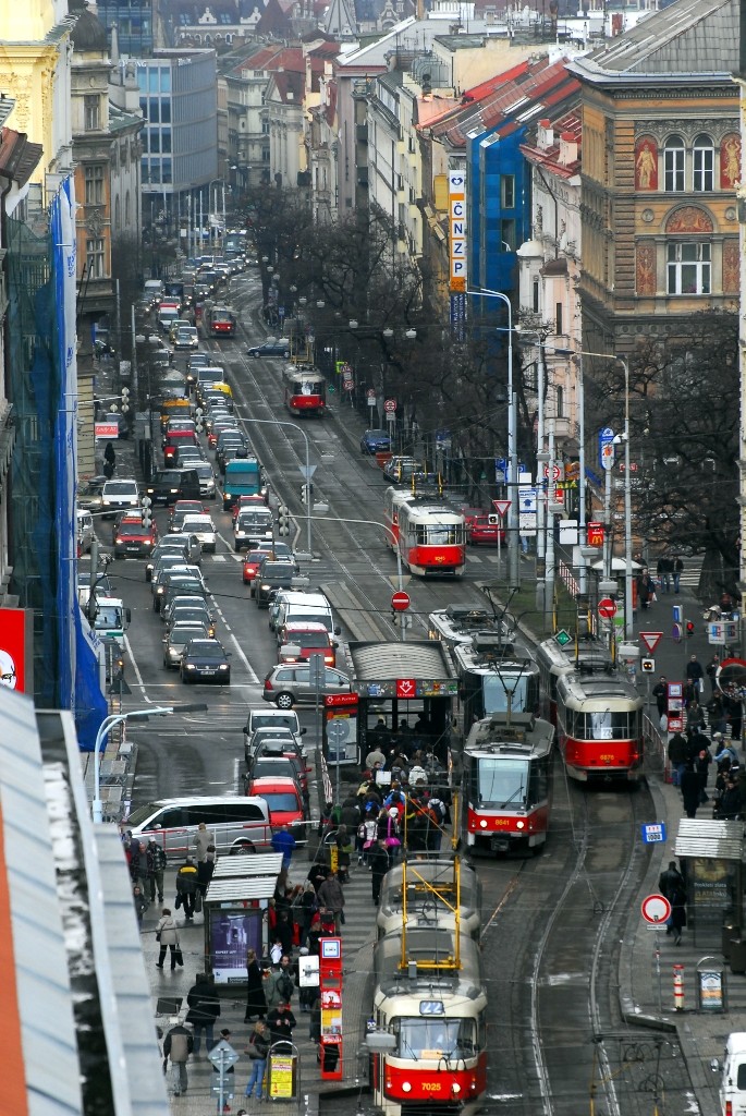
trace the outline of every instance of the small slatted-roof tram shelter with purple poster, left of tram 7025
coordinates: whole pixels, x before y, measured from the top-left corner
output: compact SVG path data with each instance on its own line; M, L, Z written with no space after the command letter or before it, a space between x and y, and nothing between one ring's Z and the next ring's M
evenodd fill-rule
M246 951L263 956L264 913L282 868L281 853L222 856L204 897L205 971L216 984L245 984Z

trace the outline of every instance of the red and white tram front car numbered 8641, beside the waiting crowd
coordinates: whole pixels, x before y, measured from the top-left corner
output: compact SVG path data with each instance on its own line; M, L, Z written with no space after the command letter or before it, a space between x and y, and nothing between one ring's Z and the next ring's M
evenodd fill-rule
M485 718L464 744L462 833L468 848L541 852L551 802L554 728L531 713Z

